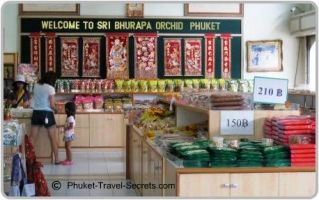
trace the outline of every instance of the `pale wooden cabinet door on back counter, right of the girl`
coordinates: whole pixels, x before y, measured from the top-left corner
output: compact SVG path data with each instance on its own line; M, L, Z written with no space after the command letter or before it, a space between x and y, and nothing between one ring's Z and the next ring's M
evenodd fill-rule
M91 147L123 147L123 114L90 114Z

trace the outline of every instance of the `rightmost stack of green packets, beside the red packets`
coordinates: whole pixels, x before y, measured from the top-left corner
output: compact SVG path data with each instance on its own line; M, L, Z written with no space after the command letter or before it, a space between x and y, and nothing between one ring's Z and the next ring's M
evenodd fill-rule
M266 167L290 166L290 151L283 145L265 147L263 149Z

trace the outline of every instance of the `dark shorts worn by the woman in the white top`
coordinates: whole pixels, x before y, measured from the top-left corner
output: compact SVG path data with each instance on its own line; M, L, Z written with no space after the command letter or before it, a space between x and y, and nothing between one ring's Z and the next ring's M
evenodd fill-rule
M45 118L48 118L47 123L45 123ZM49 128L55 124L55 118L52 111L33 110L31 125L44 126L45 128Z

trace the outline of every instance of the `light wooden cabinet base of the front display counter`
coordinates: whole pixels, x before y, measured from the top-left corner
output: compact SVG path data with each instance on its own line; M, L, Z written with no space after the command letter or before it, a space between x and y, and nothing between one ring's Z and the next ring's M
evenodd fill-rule
M165 151L146 139L141 129L130 126L128 130L127 178L136 184L156 180L155 183L162 181L174 186L160 191L163 196L311 197L317 188L314 167L184 168L179 161L172 161ZM162 171L150 170L153 163L160 163L155 167ZM154 178L153 174L162 177L154 180L150 178ZM155 195L145 189L138 192L143 196Z

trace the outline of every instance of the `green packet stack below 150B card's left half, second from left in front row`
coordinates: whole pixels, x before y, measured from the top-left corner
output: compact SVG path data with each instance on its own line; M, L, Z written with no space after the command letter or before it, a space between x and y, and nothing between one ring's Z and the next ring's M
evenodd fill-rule
M232 148L209 147L211 167L236 167L237 150Z

